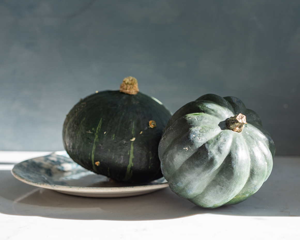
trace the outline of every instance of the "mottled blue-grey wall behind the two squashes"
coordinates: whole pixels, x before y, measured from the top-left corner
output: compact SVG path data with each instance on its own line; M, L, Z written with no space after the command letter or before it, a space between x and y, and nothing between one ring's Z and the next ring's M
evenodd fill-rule
M300 1L2 0L0 149L61 150L79 98L126 76L172 112L206 93L300 155Z

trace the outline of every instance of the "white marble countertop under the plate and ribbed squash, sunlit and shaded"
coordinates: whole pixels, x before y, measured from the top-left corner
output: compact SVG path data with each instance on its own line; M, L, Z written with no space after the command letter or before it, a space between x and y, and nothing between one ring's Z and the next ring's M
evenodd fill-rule
M269 179L237 205L204 209L169 188L87 198L15 179L13 164L49 152L0 151L0 239L299 239L300 157L275 157Z

